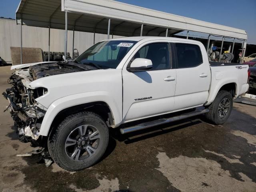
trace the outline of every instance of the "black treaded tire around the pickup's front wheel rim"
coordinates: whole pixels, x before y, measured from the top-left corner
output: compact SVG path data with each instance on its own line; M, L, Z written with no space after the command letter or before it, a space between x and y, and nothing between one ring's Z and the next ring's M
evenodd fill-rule
M72 144L72 145L74 146L74 150L81 149L80 150L81 152L82 150L84 150L84 153L85 154L87 153L87 157L86 156L82 157L83 154L80 156L80 152L79 152L79 154L76 154L75 157L73 157L72 159L72 157L70 157L67 152L67 148L68 148L66 147L67 139L70 138L70 134L73 134L72 131L75 134L76 130L78 130L79 127L84 127L83 125L92 126L93 128L96 128L96 130L98 131L98 135L100 138L96 139L97 148L95 151L90 150L90 154L89 154L88 149L86 150L81 148L82 142L79 142L80 145L77 144L78 139L80 138L78 134L77 138L75 138L77 139L77 141L74 142L76 144ZM83 129L89 130L90 128L87 128L86 126L86 129L85 128ZM78 133L80 133L79 130L78 130ZM83 139L84 138L85 138L85 134ZM89 135L88 135L88 138L89 138ZM65 118L59 124L58 128L51 133L50 137L48 138L48 150L52 159L54 160L54 162L56 162L56 164L58 164L58 166L68 171L78 171L78 170L88 168L94 165L96 162L98 162L98 160L100 160L100 158L103 156L108 146L108 138L109 138L108 127L104 122L104 120L98 114L95 114L93 112L80 112ZM84 148L85 147L86 145L84 145ZM74 159L77 156L78 158L82 158L82 159L81 160Z

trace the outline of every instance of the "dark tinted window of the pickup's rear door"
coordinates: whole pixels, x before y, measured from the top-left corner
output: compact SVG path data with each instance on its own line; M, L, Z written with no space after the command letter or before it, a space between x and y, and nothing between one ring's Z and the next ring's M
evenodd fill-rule
M175 47L178 68L191 68L203 63L202 53L198 45L176 43Z

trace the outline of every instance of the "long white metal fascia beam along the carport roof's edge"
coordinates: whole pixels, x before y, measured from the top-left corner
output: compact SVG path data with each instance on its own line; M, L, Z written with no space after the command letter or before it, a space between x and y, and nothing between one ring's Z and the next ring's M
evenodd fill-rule
M177 28L180 30L247 39L247 33L244 30L150 10L116 1L65 0L64 9L69 12L102 16L105 18L143 23L146 25L160 26L164 28Z

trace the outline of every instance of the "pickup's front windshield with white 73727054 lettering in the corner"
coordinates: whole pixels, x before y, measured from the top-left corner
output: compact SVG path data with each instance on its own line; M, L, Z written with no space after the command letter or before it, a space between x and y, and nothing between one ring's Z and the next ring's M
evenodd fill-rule
M116 68L137 41L103 41L82 53L75 62L91 64L99 68Z

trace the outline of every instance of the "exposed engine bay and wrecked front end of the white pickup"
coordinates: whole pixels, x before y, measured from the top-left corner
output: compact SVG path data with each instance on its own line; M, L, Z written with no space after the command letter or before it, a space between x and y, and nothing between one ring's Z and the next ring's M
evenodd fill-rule
M20 141L40 146L39 130L46 113L46 108L38 104L36 99L47 94L47 88L30 88L30 82L47 76L93 69L95 68L69 61L37 64L15 71L8 80L12 87L2 94L10 102L8 109Z

